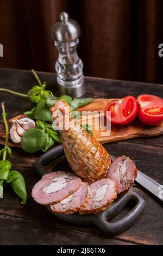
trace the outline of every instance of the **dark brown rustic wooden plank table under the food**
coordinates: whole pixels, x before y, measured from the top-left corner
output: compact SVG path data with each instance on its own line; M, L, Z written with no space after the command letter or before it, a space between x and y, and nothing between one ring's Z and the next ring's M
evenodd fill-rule
M57 93L55 75L40 72L42 81ZM34 86L30 71L0 69L0 87L26 93ZM151 93L163 97L163 86L139 82L85 78L85 96L123 97ZM0 101L5 101L8 118L23 113L32 107L28 99L0 92ZM2 117L1 117L2 121ZM130 139L128 141L105 144L104 147L115 156L127 155L136 166L154 180L163 184L163 136ZM0 244L1 245L160 245L163 242L162 204L140 185L134 190L146 200L143 215L133 227L123 233L107 237L96 227L67 223L54 217L45 206L35 203L30 196L35 182L39 179L33 163L41 153L27 154L21 149L12 149L10 161L20 170L26 180L28 203L22 205L20 199L4 187L4 199L0 199ZM65 166L66 168L66 166Z

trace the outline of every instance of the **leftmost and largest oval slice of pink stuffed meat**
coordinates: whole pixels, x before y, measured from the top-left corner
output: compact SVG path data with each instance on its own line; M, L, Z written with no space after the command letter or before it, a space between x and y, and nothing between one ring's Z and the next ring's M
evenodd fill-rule
M32 190L32 197L39 204L59 203L76 192L82 185L82 180L68 172L52 172L42 176Z

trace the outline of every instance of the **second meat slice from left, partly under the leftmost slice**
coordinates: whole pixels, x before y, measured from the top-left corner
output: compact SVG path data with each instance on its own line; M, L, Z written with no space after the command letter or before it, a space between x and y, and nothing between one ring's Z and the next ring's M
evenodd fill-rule
M89 185L83 182L79 190L65 198L58 204L51 205L51 210L58 214L73 214L77 212L82 206L85 207L90 198Z

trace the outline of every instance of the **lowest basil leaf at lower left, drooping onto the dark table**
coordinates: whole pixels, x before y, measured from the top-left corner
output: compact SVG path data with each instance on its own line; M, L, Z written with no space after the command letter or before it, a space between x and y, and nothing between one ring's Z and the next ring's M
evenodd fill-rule
M27 203L27 191L24 178L21 173L17 172L17 170L11 170L10 173L14 175L15 180L10 182L11 187L14 192L22 199L22 204Z

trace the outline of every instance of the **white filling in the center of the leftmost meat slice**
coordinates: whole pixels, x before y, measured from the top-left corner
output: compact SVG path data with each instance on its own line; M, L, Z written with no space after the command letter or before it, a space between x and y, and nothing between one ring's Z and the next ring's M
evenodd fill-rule
M45 192L46 194L50 194L62 190L62 188L67 186L68 177L68 174L61 174L59 177L53 179L52 183L49 186L43 187L43 192Z

